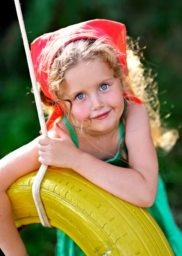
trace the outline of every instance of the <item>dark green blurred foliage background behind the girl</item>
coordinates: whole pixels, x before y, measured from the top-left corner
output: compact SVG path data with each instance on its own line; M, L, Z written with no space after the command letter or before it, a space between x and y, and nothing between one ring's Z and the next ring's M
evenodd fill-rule
M146 65L157 72L162 120L182 134L182 1L180 0L21 0L31 43L46 32L95 18L126 25L141 37ZM0 17L0 157L39 135L40 125L14 1L3 3ZM168 119L165 116L171 114ZM158 152L174 218L182 229L182 136L165 156ZM7 174L8 175L8 174ZM22 232L29 256L53 256L56 230L32 224Z

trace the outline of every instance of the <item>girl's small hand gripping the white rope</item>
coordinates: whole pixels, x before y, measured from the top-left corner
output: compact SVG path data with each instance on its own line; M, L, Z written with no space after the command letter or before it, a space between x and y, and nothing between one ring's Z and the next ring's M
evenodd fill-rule
M54 130L58 136L41 136L38 140L39 162L48 166L74 169L73 164L75 159L79 159L80 150L58 125L54 125Z

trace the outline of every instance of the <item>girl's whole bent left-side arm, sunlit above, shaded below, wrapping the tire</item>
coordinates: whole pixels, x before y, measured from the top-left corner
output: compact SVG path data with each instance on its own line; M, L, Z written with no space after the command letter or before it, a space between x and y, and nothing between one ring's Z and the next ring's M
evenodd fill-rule
M6 190L19 177L40 168L37 139L0 160L0 248L6 256L27 256L14 224Z

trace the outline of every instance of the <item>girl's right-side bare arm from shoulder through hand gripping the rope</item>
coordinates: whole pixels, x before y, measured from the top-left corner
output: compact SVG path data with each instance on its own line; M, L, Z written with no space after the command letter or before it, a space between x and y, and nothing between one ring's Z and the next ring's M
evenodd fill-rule
M158 161L151 138L145 106L129 105L126 113L125 143L130 169L105 163L80 151L68 134L57 130L60 139L42 137L39 140L39 161L46 165L74 169L83 177L139 207L154 204L158 186ZM60 157L61 156L61 157Z

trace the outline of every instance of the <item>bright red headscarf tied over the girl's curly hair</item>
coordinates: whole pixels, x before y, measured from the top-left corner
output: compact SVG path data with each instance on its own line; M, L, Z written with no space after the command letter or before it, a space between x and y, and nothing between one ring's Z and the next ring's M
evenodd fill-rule
M47 33L36 38L31 43L31 57L34 65L37 82L40 83L43 93L49 98L54 99L53 93L49 90L48 75L51 65L59 50L72 41L90 38L98 39L102 36L108 36L114 46L119 49L122 55L118 59L124 65L127 72L126 62L126 29L125 25L111 20L88 20L82 23L74 24L55 32ZM125 92L131 100L142 104L142 102L129 92ZM52 115L46 122L47 129L63 113L58 105Z

